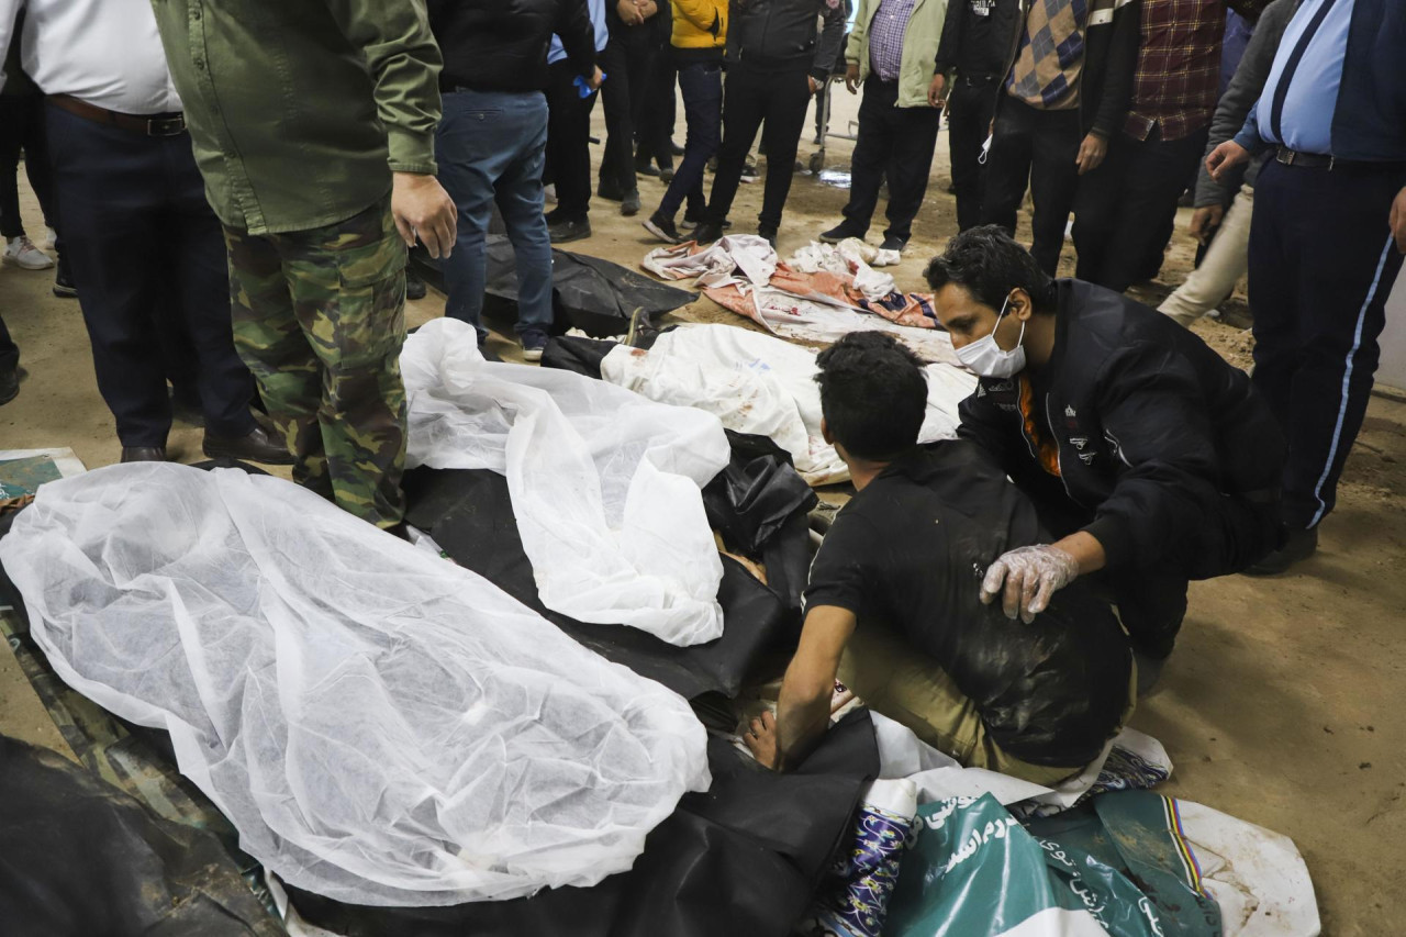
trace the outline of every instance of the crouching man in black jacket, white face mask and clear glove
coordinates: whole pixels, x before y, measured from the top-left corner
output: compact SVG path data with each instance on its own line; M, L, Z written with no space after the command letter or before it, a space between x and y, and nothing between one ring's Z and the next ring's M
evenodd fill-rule
M995 227L953 238L927 277L980 377L959 435L995 456L1059 537L994 563L983 601L1029 619L1098 574L1154 677L1188 580L1244 570L1281 542L1285 447L1268 405L1194 333L1102 287L1052 280Z

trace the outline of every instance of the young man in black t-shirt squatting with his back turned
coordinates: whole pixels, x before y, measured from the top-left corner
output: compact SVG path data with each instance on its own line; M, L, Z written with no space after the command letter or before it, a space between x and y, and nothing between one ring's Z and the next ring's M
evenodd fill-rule
M1111 609L1081 587L1029 625L983 605L987 567L1047 540L1033 504L979 446L917 445L927 383L887 335L848 335L818 364L825 439L856 494L811 566L800 647L776 718L747 733L752 753L797 765L828 726L838 674L965 765L1039 784L1080 771L1132 712Z

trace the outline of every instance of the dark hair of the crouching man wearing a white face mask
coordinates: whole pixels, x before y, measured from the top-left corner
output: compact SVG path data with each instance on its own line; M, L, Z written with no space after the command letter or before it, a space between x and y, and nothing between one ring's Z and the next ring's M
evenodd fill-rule
M1054 281L1000 225L963 231L928 263L924 276L934 293L956 283L993 310L1001 308L1011 290L1025 290L1040 312L1054 307Z

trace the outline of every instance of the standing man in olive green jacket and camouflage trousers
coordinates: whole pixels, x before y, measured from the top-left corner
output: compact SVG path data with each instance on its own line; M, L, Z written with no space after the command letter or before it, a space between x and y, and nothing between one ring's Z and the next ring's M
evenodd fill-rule
M406 249L449 256L434 177L440 52L423 0L155 0L235 348L292 477L380 528L405 514Z

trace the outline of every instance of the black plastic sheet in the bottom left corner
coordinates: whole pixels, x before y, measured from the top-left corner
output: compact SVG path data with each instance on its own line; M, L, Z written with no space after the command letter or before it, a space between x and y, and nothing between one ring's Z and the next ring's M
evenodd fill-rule
M285 933L219 841L59 754L0 736L0 930L15 937Z

